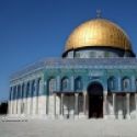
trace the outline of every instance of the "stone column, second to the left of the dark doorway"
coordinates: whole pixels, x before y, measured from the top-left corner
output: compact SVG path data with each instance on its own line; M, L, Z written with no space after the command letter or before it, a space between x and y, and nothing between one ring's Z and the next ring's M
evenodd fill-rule
M79 93L75 93L75 117L78 118L79 115Z

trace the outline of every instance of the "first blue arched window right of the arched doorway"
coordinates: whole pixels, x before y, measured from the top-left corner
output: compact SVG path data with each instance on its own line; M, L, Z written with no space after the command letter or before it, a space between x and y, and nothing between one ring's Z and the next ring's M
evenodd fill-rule
M107 80L107 87L110 91L116 90L116 78L110 77Z

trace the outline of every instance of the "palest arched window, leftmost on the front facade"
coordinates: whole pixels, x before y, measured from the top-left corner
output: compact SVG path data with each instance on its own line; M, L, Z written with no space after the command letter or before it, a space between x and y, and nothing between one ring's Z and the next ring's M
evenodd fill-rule
M56 79L52 78L48 82L48 90L49 94L52 94L54 91L56 91Z

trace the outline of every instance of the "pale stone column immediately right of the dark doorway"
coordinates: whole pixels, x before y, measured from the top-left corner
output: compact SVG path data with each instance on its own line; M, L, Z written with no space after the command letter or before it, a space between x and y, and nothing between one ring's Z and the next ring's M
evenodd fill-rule
M106 109L107 109L107 93L104 93L103 95L104 100L103 100L103 118L107 118L107 112L106 112Z

